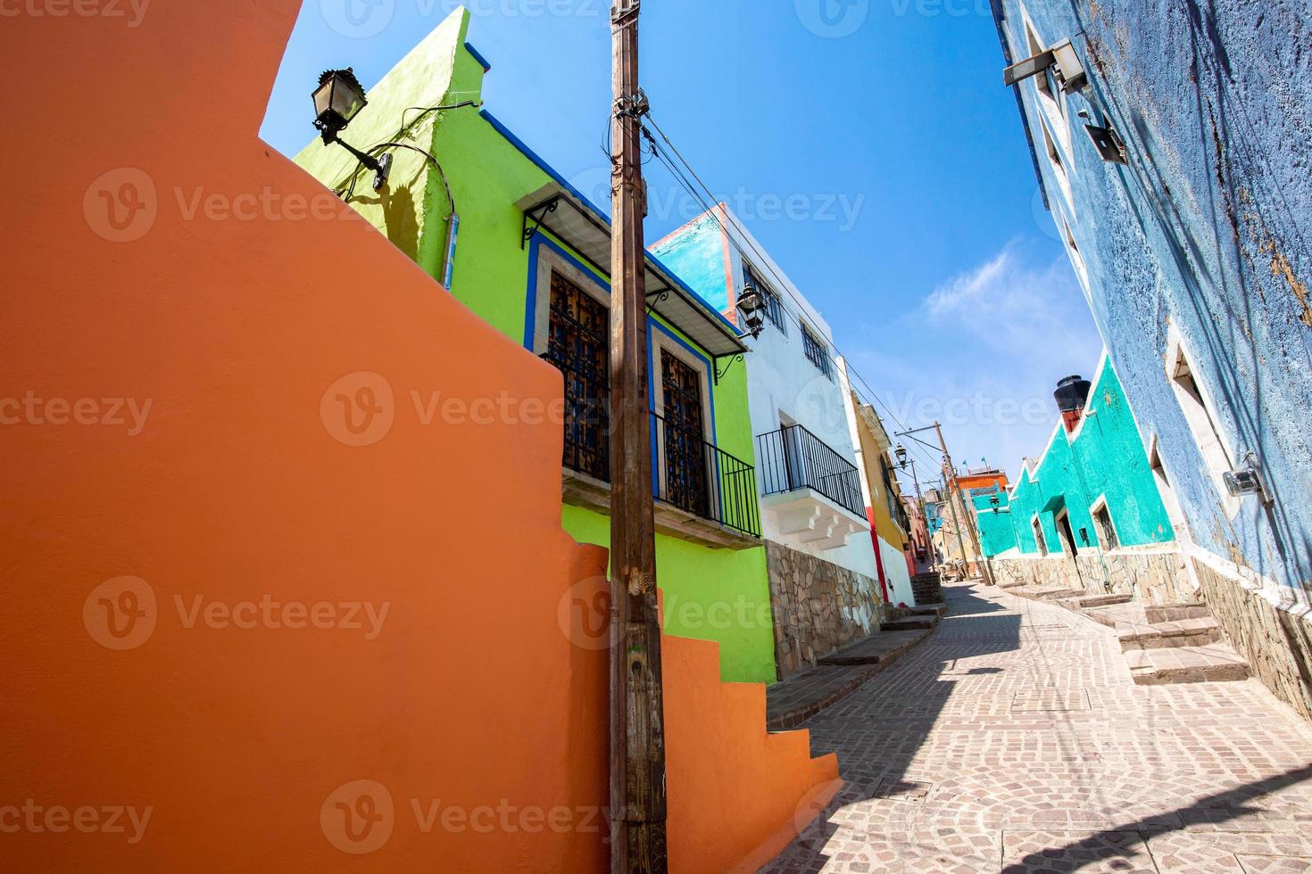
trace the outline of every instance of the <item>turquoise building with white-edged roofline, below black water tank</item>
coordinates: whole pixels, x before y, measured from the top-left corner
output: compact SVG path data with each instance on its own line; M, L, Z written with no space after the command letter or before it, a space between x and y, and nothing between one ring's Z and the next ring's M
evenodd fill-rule
M1057 422L1005 494L974 498L988 557L1107 553L1176 540L1130 402L1106 354L1078 415Z

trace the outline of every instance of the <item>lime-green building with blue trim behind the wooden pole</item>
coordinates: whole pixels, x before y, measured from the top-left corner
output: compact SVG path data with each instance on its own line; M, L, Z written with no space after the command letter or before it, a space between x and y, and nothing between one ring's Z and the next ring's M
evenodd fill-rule
M386 185L375 190L371 172L318 140L295 162L349 193L359 215L450 294L563 372L562 523L576 540L609 546L610 223L482 106L489 66L466 42L467 28L468 13L454 12L369 89L342 132L391 155ZM719 642L724 680L773 683L747 368L724 367L747 347L655 256L647 287L665 629Z

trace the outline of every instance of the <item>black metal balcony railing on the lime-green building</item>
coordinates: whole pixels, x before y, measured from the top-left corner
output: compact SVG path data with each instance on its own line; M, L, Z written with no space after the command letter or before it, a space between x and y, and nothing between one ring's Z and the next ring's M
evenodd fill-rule
M610 389L605 375L551 352L542 358L565 379L564 466L610 482ZM760 537L756 468L656 413L651 419L653 497Z

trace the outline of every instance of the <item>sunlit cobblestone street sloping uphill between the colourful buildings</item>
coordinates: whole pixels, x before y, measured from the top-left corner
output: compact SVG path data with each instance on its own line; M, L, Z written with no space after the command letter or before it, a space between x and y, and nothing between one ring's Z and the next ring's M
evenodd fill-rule
M806 723L842 790L768 871L1312 871L1312 731L1256 680L1136 687L1111 629L979 583Z

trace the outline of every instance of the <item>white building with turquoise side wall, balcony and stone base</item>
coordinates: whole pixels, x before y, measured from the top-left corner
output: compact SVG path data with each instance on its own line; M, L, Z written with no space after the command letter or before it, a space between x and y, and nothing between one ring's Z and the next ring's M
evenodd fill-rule
M745 318L737 303L748 290L761 299L761 329L739 367L756 435L782 679L876 632L882 616L879 563L832 333L724 204L652 250L735 324Z

